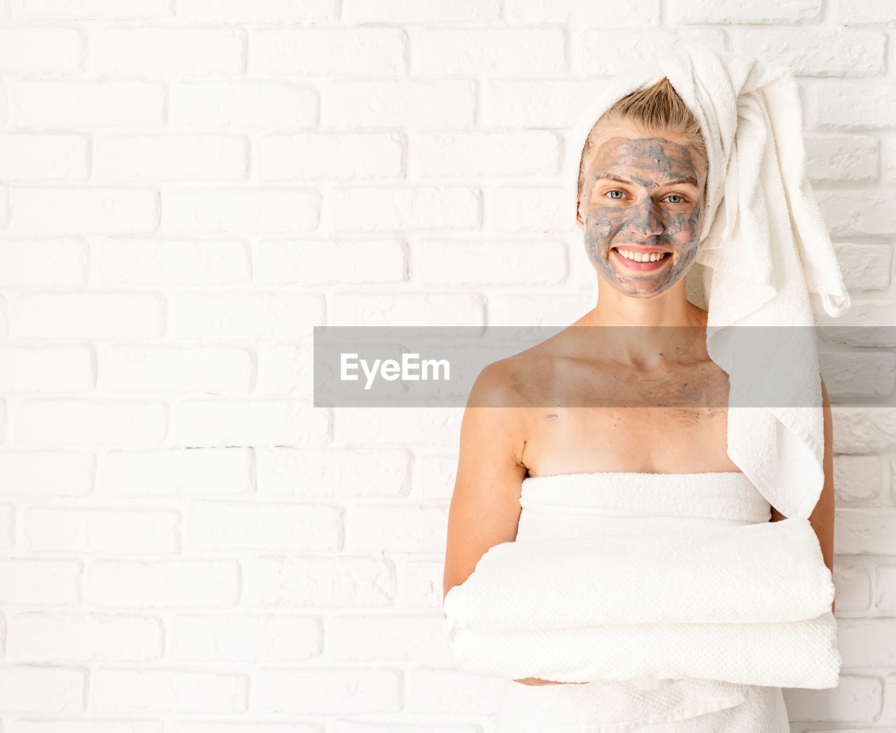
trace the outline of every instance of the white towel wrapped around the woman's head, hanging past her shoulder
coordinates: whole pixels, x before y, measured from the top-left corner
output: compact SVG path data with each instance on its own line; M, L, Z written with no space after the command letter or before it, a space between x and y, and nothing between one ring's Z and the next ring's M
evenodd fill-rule
M664 76L706 139L706 209L696 256L703 267L687 277L702 289L709 311L710 358L729 376L728 455L780 513L805 519L824 481L816 298L838 316L849 308L849 293L806 177L792 74L691 44L615 77L567 147L569 205L576 203L591 126L617 99Z

